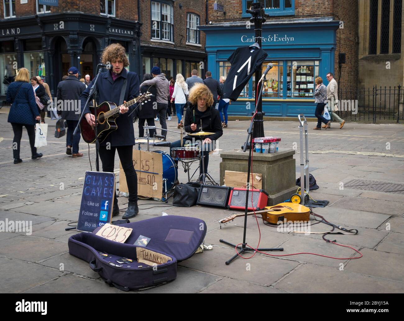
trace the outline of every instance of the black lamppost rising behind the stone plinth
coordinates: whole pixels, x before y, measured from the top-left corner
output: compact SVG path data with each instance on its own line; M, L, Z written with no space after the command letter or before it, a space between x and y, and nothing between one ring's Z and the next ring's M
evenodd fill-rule
M262 44L262 24L265 23L267 17L269 17L269 15L267 15L265 13L265 10L263 8L261 8L262 4L261 2L254 2L251 5L251 10L247 9L246 13L249 13L250 15L252 15L252 17L250 18L250 21L252 23L254 23L254 30L255 30L255 42L257 42L257 44L259 44L259 47L261 48L261 44ZM255 72L255 86L257 87L257 82L259 81L259 79L261 79L262 76L262 65L257 69L257 71ZM253 88L255 90L255 99L257 99L258 93L261 92L261 86L262 86L262 82L260 83L258 89L257 88ZM264 123L263 123L263 117L265 115L265 113L263 113L262 111L262 99L260 99L259 101L257 101L257 115L255 115L255 119L254 119L254 127L253 127L253 131L252 131L252 138L256 138L256 137L264 137Z

